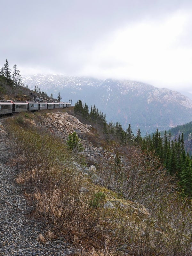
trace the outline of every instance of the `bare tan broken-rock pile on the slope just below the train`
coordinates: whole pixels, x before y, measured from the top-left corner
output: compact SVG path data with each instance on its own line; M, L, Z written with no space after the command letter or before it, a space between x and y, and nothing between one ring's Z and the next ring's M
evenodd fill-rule
M81 123L76 117L69 115L67 112L46 113L44 119L41 120L41 125L64 141L67 141L70 133L76 132L79 138L82 139L84 146L84 151L81 154L85 155L90 162L98 162L105 153L101 147L93 146L86 138L87 134L92 135L91 125Z

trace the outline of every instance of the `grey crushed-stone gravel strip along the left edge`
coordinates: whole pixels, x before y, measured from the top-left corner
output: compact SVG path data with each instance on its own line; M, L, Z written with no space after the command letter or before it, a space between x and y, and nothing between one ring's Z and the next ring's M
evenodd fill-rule
M10 167L8 139L0 120L0 255L72 255L75 250L64 237L38 242L44 223L34 219L22 186L15 183ZM77 255L77 254L76 254Z

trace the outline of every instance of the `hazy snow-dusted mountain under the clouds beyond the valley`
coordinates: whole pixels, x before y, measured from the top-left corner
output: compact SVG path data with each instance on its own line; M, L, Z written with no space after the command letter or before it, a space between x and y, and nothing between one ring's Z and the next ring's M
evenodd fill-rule
M136 134L138 128L144 136L158 128L170 129L192 120L192 100L179 92L152 85L113 79L71 77L66 75L33 75L23 78L30 89L35 86L63 101L78 99L89 106L95 105L107 116L107 121L118 121L126 130L131 124Z

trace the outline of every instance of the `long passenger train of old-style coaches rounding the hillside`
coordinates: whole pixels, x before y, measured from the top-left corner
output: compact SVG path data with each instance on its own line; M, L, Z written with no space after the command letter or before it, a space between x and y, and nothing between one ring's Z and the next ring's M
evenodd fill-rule
M68 107L71 107L71 103L0 100L0 116L19 112L60 109Z

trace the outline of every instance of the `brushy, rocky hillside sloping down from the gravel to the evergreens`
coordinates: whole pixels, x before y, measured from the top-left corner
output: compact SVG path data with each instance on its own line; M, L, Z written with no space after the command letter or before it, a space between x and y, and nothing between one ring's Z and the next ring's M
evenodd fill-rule
M1 126L12 142L12 160L4 161L12 163L20 192L33 205L30 218L44 221L44 231L36 227L31 235L32 241L37 236L35 252L50 245L50 255L63 252L65 239L74 255L190 255L191 205L178 196L159 159L117 141L101 147L96 127L67 111L20 114ZM67 146L74 132L80 152ZM22 228L14 234L20 237ZM6 239L3 250L11 252L11 236Z

